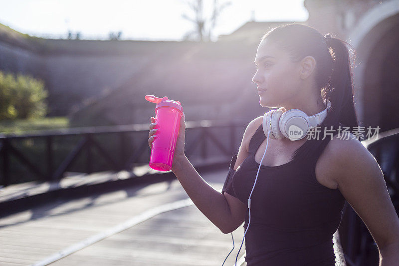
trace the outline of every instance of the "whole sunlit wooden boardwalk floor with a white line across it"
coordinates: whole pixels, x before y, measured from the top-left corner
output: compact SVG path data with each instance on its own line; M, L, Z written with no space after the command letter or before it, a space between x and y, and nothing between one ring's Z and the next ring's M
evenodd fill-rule
M220 191L226 171L201 177ZM233 232L225 266L234 265L243 234L242 225ZM1 266L221 266L231 249L231 234L207 220L177 179L54 200L0 219ZM342 251L335 253L336 265L345 265ZM244 255L245 243L238 259Z

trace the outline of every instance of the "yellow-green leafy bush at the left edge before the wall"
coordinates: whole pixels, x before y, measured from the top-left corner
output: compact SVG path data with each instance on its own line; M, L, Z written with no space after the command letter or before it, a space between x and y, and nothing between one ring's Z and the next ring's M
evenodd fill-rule
M42 80L0 71L0 120L45 116L47 95Z

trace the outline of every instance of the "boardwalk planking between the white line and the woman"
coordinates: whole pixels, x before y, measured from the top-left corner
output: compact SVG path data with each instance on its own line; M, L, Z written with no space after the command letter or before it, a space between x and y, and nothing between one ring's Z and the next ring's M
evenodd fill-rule
M195 220L200 221L202 225L195 227L193 224L187 227L185 221L176 224L173 219L164 217L173 216L175 212L176 216L182 218L181 220L193 217L193 214L197 215ZM163 213L156 218L157 221L153 219L145 221L51 265L93 263L94 258L101 258L106 262L118 258L119 265L125 265L124 262L129 262L128 265L221 265L232 248L230 235L222 234L213 224L204 220L206 218L198 209L196 210L195 206ZM239 228L237 231L240 232L233 233L236 236L235 247L239 247L242 239L242 230ZM226 265L234 263L237 251L238 248L230 254L229 264ZM241 248L240 256L244 252L245 245Z

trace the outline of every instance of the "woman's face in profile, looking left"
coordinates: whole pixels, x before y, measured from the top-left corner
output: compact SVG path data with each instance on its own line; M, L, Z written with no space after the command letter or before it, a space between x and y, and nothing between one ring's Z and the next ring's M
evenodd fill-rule
M255 64L257 70L252 81L258 91L262 90L258 92L260 105L269 108L291 105L300 92L300 64L291 62L288 53L267 39L258 46Z

